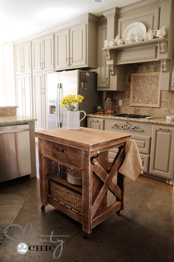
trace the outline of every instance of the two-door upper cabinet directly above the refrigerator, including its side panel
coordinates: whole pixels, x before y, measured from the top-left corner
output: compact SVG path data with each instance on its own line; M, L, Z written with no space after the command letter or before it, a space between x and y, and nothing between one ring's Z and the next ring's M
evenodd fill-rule
M57 31L55 57L56 70L97 68L97 25L81 23Z

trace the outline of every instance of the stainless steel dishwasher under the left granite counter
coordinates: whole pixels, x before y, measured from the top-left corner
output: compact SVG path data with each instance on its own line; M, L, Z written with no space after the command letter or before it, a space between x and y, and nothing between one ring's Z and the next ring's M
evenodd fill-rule
M0 182L31 174L29 125L0 126Z

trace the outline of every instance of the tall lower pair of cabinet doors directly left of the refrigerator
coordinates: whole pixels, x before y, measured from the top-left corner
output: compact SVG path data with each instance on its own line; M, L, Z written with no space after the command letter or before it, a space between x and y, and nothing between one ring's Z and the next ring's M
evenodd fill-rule
M48 128L47 75L52 72L53 70L33 73L33 105L34 118L37 118L35 123L37 131Z

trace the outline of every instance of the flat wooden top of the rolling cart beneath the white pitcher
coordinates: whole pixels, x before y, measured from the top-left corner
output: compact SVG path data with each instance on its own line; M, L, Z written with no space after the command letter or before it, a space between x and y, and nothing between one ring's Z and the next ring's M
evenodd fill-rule
M93 151L104 147L105 144L117 144L128 141L131 135L113 133L110 131L97 130L81 127L79 130L67 128L55 128L44 131L36 131L35 136L49 141L55 141L64 145L77 147L86 151Z

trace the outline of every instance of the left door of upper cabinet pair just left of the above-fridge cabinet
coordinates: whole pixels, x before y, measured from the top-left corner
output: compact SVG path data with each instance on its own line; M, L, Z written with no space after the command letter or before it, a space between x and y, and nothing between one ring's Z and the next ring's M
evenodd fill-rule
M42 38L32 41L32 68L33 72L42 70Z

